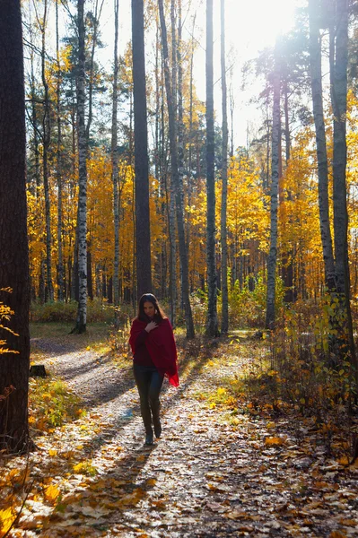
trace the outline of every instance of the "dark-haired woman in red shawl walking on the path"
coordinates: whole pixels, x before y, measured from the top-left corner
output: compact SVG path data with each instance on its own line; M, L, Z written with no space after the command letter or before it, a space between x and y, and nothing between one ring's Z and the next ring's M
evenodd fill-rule
M133 369L144 421L145 445L153 445L152 420L155 437L160 438L162 433L159 395L164 376L173 386L179 386L179 377L177 348L170 321L152 293L144 293L139 299L129 343L134 353Z

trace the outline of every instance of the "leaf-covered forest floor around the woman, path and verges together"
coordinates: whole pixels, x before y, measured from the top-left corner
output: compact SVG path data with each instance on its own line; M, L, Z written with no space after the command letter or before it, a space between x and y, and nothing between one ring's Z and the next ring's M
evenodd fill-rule
M48 327L32 360L81 409L57 428L37 416L38 449L2 462L0 536L358 536L358 466L328 456L309 419L284 408L273 418L240 393L263 343L179 338L181 384L165 382L162 438L145 447L126 346L110 352L100 328Z

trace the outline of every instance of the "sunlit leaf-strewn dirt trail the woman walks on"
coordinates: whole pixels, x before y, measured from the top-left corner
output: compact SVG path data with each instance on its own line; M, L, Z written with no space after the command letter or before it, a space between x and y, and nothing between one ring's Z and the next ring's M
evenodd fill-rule
M162 438L144 447L130 363L118 369L109 358L58 339L35 345L89 411L40 439L33 464L48 473L61 500L55 512L46 503L27 503L13 536L358 535L351 478L334 462L322 467L319 447L307 454L290 437L289 424L284 446L266 447L272 431L265 423L238 415L230 424L223 410L201 400L221 377L238 373L242 358L223 368L217 350L187 368L179 389L166 383ZM56 462L44 456L51 450Z

